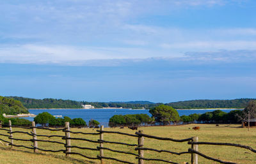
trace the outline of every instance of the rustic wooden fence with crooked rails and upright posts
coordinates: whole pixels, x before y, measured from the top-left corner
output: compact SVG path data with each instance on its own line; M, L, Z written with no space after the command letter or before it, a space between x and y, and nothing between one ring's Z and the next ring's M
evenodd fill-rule
M124 160L119 160L119 159L116 159L113 157L104 156L104 150L112 151L115 153L124 153L124 154L133 155L138 160L139 164L144 164L144 161L162 161L165 163L178 164L178 163L175 163L173 161L168 161L168 160L144 158L144 151L154 151L157 153L164 152L164 153L170 153L170 154L176 154L176 155L190 154L191 155L190 162L192 164L198 164L198 155L202 156L203 158L206 158L208 160L218 161L219 163L236 164L236 163L233 163L230 161L221 161L219 159L206 156L205 154L202 154L198 151L198 145L227 145L227 146L233 146L233 147L241 147L244 149L248 149L248 150L252 151L253 153L256 153L255 149L253 149L252 147L246 146L246 145L230 144L230 143L217 143L217 142L198 142L198 137L185 138L185 139L181 139L181 140L177 140L177 139L173 139L173 138L165 138L165 137L156 137L156 136L152 136L152 135L147 135L147 134L143 133L142 130L136 131L136 133L133 135L133 134L129 134L129 133L122 133L119 131L105 131L104 126L100 126L100 130L97 130L97 133L83 133L80 131L71 131L68 122L65 123L65 128L59 128L59 129L36 127L34 121L32 122L32 126L30 126L30 127L12 126L11 121L9 121L8 126L9 126L9 129L0 128L1 131L7 131L7 133L8 133L7 135L0 133L0 136L8 137L8 139L10 139L10 140L4 140L3 138L0 138L0 140L8 143L8 145L10 145L11 147L14 146L14 147L24 147L26 149L33 149L34 153L38 153L38 150L49 151L52 153L63 152L66 154L67 157L69 157L70 154L77 154L79 156L83 156L84 158L88 158L90 160L100 160L100 163L102 163L102 164L104 163L104 160L114 160L114 161L118 161L121 163L134 164L129 161L124 161ZM13 131L13 128L24 128L27 130L31 130L31 132L29 133L29 132L25 132L25 131ZM63 131L63 133L65 133L65 135L38 135L38 134L36 134L36 129L49 130L49 131ZM31 136L31 139L13 138L13 133L24 133L24 134ZM99 135L99 140L90 140L90 139L86 139L86 138L71 137L70 136L71 133L72 134L83 134L83 135ZM135 137L138 139L138 144L128 144L128 143L104 140L104 133L115 133L118 135L126 135L129 137ZM39 140L36 137L48 137L48 138L60 137L63 140L65 140L65 143L58 142L58 141L52 141L52 140ZM144 147L144 138L154 138L156 140L168 140L168 141L172 141L172 142L188 142L188 144L191 145L191 148L189 148L188 151L184 151L184 152L180 152L180 153L167 151L167 150L152 149L150 147ZM31 145L31 147L28 147L26 145L17 145L17 144L14 144L13 140L32 142L33 145ZM97 146L96 148L80 147L80 146L76 146L76 145L71 145L71 140L82 140L82 141L86 141L86 142L93 142L93 143L99 144L99 146ZM38 142L50 142L50 143L61 144L61 145L63 145L63 149L60 149L60 150L41 149L38 147ZM103 146L104 143L105 144L121 144L121 145L132 146L132 147L135 147L134 150L138 151L138 154L109 149L109 148ZM99 155L97 155L95 157L87 156L86 154L72 152L71 148L90 150L90 151L99 151Z

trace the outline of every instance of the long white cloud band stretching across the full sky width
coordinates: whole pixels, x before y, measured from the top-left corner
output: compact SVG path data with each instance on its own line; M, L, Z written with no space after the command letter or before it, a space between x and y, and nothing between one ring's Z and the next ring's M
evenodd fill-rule
M193 45L194 46L194 45ZM205 46L202 44L196 46ZM256 61L256 50L188 51L184 53L143 48L71 47L19 45L0 47L0 63L115 66L150 60L171 61Z

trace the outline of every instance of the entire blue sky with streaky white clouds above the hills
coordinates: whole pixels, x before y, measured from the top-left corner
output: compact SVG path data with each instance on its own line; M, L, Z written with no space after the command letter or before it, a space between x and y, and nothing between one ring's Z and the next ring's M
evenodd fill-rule
M256 98L256 1L0 1L0 95Z

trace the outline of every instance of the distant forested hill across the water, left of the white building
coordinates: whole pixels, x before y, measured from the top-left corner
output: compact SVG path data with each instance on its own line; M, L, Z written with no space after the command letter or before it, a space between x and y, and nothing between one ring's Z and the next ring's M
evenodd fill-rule
M43 100L40 100L16 96L10 96L8 98L21 101L26 108L81 108L79 101L72 100L61 100L53 98L44 98Z

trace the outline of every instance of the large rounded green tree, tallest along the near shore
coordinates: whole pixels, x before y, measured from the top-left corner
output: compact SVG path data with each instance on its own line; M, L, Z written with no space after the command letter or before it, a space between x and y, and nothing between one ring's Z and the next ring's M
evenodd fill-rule
M159 105L158 107L154 107L149 110L152 117L156 119L157 123L161 124L170 124L173 122L174 124L180 120L179 113L173 107L167 105Z

